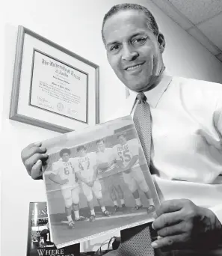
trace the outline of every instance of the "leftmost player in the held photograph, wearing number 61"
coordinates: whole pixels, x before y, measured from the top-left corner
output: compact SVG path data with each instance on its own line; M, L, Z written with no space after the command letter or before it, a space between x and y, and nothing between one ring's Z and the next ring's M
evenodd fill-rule
M75 159L70 158L71 151L64 148L60 151L61 160L52 164L52 173L49 174L49 180L61 186L61 194L64 198L65 210L67 213L68 227L75 228L75 222L72 218L74 209L75 221L83 221L86 218L79 216L79 184L75 177Z

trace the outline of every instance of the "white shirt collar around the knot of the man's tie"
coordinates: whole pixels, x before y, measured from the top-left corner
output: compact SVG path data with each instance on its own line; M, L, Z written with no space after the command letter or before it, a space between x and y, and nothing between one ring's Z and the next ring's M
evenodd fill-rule
M158 83L158 85L155 86L150 91L144 92L144 94L147 97L147 103L149 103L149 106L152 106L152 108L155 108L161 99L161 96L164 94L164 91L167 90L168 85L170 85L170 82L172 81L172 76L167 76L167 74L164 72L161 82ZM138 93L135 91L128 90L126 91L126 98L131 100L135 100Z

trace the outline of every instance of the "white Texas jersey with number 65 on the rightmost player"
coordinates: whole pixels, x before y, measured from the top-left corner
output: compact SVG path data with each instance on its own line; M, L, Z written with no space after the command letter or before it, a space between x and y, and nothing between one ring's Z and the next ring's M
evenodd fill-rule
M116 159L121 160L123 162L123 166L126 167L131 161L133 156L138 156L139 154L139 143L138 139L133 138L130 141L126 141L126 144L123 146L121 144L117 144L115 147ZM139 159L135 162L135 165L132 167L136 167L139 165Z

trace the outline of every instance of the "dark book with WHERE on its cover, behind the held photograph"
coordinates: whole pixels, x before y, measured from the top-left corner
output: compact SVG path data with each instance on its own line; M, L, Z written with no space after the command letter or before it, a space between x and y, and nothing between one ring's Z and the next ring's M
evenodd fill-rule
M28 216L27 256L79 256L79 244L58 249L52 241L46 202L31 202Z

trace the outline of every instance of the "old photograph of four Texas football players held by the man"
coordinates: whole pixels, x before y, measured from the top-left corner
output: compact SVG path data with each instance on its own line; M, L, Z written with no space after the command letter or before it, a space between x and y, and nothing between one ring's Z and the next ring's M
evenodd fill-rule
M152 221L159 204L131 116L43 141L58 248Z

